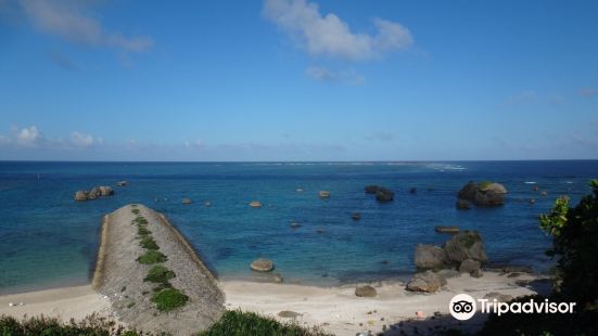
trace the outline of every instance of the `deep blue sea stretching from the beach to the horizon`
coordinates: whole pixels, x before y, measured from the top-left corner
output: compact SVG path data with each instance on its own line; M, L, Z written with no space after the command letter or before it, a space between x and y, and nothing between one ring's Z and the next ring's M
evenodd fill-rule
M39 178L38 178L39 175ZM598 160L465 163L0 163L0 293L87 283L101 218L129 203L164 212L222 279L253 276L249 263L273 259L287 282L331 284L413 270L418 243L442 244L438 224L478 230L491 260L546 270L549 238L537 216L567 194L590 192ZM109 198L77 203L75 191L114 185ZM509 190L498 208L455 209L469 180ZM546 197L533 192L536 182ZM367 184L395 201L377 203ZM302 188L303 192L295 190ZM417 194L409 189L417 188ZM431 191L428 189L431 188ZM320 199L319 190L331 191ZM181 198L194 201L185 206ZM536 198L530 205L529 198ZM260 209L247 203L258 199ZM209 201L212 207L205 207ZM361 214L353 221L351 214ZM291 229L290 222L303 227ZM317 230L323 229L325 233ZM387 260L387 263L382 263Z

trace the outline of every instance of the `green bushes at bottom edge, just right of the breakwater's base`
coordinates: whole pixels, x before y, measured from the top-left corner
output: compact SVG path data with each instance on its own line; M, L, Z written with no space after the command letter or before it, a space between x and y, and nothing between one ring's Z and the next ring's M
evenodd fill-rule
M208 331L199 336L272 335L272 336L329 336L317 328L307 329L293 323L280 323L254 312L227 311Z

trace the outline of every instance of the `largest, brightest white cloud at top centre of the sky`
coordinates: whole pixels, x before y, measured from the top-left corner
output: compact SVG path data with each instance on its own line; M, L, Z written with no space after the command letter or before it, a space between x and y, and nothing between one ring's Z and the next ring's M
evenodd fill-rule
M353 33L339 16L322 16L318 5L306 0L266 0L263 15L296 38L311 55L361 61L413 43L411 33L398 23L376 18L374 35Z

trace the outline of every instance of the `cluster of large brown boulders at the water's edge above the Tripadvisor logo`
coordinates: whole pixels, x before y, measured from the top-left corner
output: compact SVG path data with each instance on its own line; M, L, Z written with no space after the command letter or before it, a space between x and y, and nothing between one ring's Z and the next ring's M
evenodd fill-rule
M481 277L482 264L487 261L482 236L475 231L459 232L441 247L420 244L416 247L415 262L420 272L407 284L413 292L436 292L446 277L469 273Z

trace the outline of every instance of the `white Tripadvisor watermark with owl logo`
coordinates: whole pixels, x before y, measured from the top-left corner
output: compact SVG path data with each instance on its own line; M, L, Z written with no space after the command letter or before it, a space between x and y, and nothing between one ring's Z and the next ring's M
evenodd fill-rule
M497 299L473 299L470 295L458 294L450 299L448 310L457 320L469 320L478 311L481 313L495 313L500 316L504 313L525 314L567 314L573 313L575 302L551 302L548 299L536 301L531 299L526 302L500 302Z

